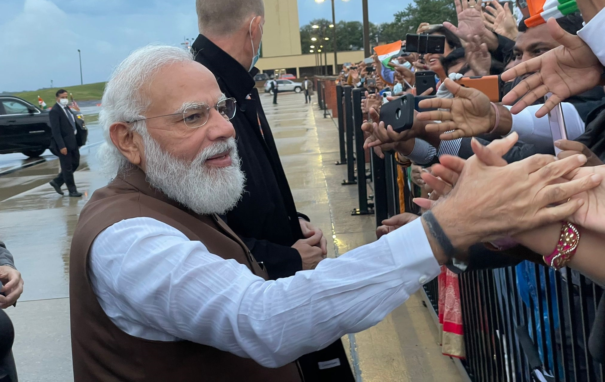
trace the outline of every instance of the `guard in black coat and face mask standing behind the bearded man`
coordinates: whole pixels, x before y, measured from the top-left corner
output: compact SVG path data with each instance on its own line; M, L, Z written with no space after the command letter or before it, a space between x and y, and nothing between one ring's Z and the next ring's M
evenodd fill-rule
M293 245L305 238L299 221L309 218L296 212L292 191L255 88L253 77L258 69L254 65L260 56L263 34L264 12L260 13L261 8L261 0L248 0L242 2L238 12L224 7L221 14L214 2L197 0L200 31L208 30L213 35L199 35L192 50L195 61L217 78L221 91L237 100L237 113L231 122L237 134L241 169L246 173L246 188L237 206L227 212L225 220L255 259L264 262L269 277L275 279L289 277L303 269L303 257ZM231 20L229 24L224 22L227 18ZM221 29L225 27L228 31ZM276 100L276 94L273 100ZM302 356L297 363L306 381L355 381L340 340L321 351Z

